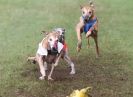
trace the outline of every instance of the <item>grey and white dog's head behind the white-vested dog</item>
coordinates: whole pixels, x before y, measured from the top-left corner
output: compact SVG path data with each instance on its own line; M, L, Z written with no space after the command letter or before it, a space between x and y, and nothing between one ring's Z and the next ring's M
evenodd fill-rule
M54 32L57 32L59 34L59 42L63 43L65 40L65 29L64 28L55 28L53 30Z

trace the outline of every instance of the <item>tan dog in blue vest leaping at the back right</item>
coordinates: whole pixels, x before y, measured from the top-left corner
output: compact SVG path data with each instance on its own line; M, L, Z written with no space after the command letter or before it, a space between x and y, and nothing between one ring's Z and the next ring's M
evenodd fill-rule
M99 47L98 47L98 19L95 16L95 9L92 2L89 2L89 5L80 6L82 11L82 16L80 17L79 23L76 25L77 32L77 51L81 50L82 46L82 33L86 34L88 38L88 47L90 46L89 37L91 36L96 44L96 57L99 56Z

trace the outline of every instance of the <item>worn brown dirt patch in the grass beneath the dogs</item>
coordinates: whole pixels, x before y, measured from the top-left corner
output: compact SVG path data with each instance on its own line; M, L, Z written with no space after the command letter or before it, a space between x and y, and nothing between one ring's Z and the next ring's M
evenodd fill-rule
M112 54L112 53L111 53ZM110 55L111 55L110 54ZM26 69L23 69L21 76L24 78L36 78L38 88L33 94L39 95L38 97L66 97L74 89L81 89L87 86L93 87L92 97L132 97L131 88L132 72L127 72L124 67L127 65L124 59L128 56L119 54L104 54L99 59L92 56L84 55L80 57L72 57L75 63L76 74L69 75L70 68L65 65L64 61L59 63L53 73L54 81L39 81L40 76L38 65L29 64ZM47 74L50 71L48 68ZM44 87L43 87L44 86ZM44 93L42 91L44 89ZM124 95L124 96L123 96Z

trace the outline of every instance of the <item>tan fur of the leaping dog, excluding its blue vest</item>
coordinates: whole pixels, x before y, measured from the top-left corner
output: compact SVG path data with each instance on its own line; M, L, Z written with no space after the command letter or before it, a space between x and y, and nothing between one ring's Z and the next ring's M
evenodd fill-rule
M88 16L91 19L96 18L95 16L95 9L94 9L94 5L92 3L90 3L89 5L85 5L85 6L80 6L81 11L82 11L82 16ZM91 14L88 14L91 13ZM76 25L76 32L77 32L77 39L78 39L78 43L77 43L77 51L79 52L82 46L82 32L83 32L83 27L85 25L85 21L83 20L82 16L79 19L79 22ZM99 47L98 47L98 20L96 22L96 24L94 25L94 29L95 30L95 34L93 34L92 32L88 31L86 33L86 38L88 38L88 47L90 46L89 44L89 37L92 37L95 41L96 44L96 57L99 56Z

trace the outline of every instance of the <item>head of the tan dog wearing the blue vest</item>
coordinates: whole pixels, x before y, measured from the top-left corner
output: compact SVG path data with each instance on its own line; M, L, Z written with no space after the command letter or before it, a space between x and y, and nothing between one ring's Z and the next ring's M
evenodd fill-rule
M80 5L81 11L82 11L82 17L85 20L89 20L94 15L94 5L90 1L89 5L82 6Z

